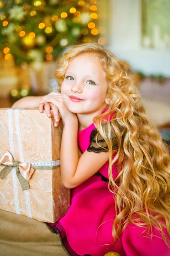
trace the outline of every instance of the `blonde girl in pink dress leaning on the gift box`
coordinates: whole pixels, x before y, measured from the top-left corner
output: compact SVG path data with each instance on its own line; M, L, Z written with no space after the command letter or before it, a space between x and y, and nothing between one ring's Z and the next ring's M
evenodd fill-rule
M72 256L169 256L170 158L123 62L99 44L80 44L56 77L61 93L14 105L40 102L54 126L60 116L64 124L61 175L71 207L49 226Z

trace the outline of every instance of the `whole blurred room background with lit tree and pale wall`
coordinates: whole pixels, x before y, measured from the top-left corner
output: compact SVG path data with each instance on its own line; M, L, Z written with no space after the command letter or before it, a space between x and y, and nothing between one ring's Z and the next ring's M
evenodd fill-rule
M0 108L57 90L62 52L98 42L135 73L153 124L170 126L169 14L170 0L0 0Z

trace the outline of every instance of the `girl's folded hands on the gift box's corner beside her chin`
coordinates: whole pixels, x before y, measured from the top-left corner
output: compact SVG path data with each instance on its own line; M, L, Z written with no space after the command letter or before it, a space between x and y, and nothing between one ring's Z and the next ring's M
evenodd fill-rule
M52 92L45 95L40 100L39 110L42 113L45 110L48 117L51 117L51 110L54 114L54 126L57 127L60 118L65 124L68 120L77 119L76 114L68 110L65 102L62 99L61 93Z

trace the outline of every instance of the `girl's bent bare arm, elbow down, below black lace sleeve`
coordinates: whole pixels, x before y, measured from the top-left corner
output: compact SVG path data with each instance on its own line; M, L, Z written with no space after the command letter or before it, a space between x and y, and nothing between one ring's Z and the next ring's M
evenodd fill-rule
M64 123L62 143L60 151L62 183L72 189L91 176L108 161L108 152L88 152L87 150L79 158L78 144L78 120L68 120Z

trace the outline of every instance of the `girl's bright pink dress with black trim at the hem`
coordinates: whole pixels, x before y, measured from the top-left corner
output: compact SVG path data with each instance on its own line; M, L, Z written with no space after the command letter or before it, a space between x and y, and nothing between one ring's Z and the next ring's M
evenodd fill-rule
M94 129L94 124L91 124L78 132L82 153L90 146ZM60 233L62 243L71 256L104 256L112 251L121 256L170 256L170 248L158 231L153 230L154 236L150 241L149 237L144 237L144 228L132 224L113 246L115 208L113 193L108 190L108 162L98 174L71 190L70 209L57 223L49 224L56 233ZM117 174L113 166L113 177Z

